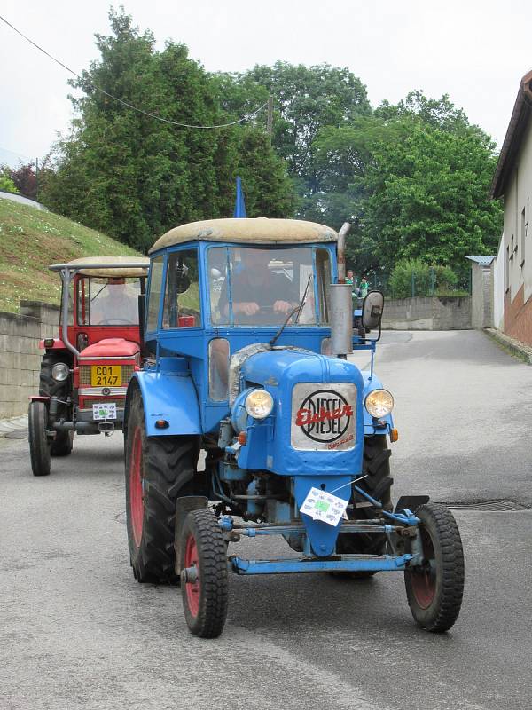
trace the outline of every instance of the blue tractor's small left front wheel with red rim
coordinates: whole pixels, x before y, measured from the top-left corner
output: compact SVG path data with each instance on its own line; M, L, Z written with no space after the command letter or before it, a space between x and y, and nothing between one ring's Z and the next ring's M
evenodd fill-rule
M228 574L225 541L212 510L187 515L179 545L184 618L192 634L216 638L227 617Z

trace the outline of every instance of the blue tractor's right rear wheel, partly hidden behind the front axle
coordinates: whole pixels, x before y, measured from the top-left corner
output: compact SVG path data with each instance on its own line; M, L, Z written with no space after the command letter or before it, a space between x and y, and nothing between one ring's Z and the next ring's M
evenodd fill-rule
M391 486L393 478L390 477L391 451L387 447L387 438L384 435L364 437L364 455L362 471L366 476L358 484L372 498L380 501L385 510L392 509ZM350 520L367 520L374 517L375 509L372 507L356 508L356 503L363 503L365 499L359 494L352 498L353 508L348 508ZM338 536L336 549L346 555L384 555L387 538L381 533L343 533ZM376 572L339 572L335 576L350 579L364 580L372 577Z

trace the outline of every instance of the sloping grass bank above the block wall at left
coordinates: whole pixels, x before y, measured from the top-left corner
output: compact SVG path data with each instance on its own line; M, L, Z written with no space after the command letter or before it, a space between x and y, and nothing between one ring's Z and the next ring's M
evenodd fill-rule
M19 300L59 304L61 280L50 264L79 256L141 256L134 249L66 217L0 200L0 311Z

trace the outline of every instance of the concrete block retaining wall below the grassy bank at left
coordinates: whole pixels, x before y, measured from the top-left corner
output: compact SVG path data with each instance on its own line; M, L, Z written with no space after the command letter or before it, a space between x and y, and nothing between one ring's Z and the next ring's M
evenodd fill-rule
M59 306L20 301L20 314L0 312L0 419L27 413L39 392L41 338L58 334Z

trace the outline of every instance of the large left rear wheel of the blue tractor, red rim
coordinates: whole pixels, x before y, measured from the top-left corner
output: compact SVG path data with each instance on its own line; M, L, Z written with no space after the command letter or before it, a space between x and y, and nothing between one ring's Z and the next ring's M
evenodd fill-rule
M196 436L148 437L140 390L133 393L125 436L129 555L139 582L176 583L176 499L188 493L200 454Z

